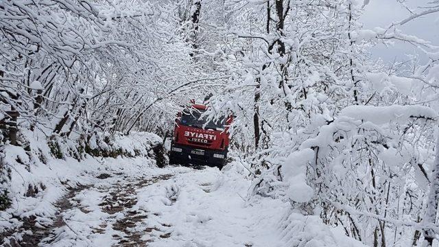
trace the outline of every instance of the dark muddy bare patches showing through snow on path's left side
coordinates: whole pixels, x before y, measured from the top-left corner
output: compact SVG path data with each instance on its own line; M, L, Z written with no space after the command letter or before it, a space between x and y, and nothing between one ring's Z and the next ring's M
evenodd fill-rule
M112 176L121 176L122 174L100 174L97 176L99 179L111 178ZM75 203L75 196L84 190L95 190L102 193L106 193L106 196L102 198L102 202L99 207L102 212L110 215L107 222L102 222L97 228L93 228L92 233L103 234L106 231L108 224L110 228L116 232L112 235L112 238L117 240L115 246L147 246L150 239L145 239L145 235L151 235L161 238L170 237L171 233L167 233L156 227L147 227L145 222L150 215L150 212L144 210L133 210L132 207L137 203L137 189L146 187L157 183L161 180L167 180L173 175L166 174L161 176L155 176L152 178L129 178L128 176L121 176L121 179L116 183L111 183L108 187L95 187L95 185L78 185L78 187L69 187L68 192L64 195L55 206L57 209L51 224L43 224L37 222L36 217L25 217L17 220L23 222L19 228L11 229L0 234L0 246L51 246L59 240L59 235L62 231L72 231L75 235L78 235L78 239L84 239L87 236L80 236L76 231L69 226L68 219L64 218L64 213L71 209L80 209L83 213L89 213L85 208L78 207L78 203ZM122 213L123 217L115 217L117 213ZM114 216L113 216L114 215ZM168 225L163 225L168 227ZM60 231L60 228L64 230ZM13 237L14 233L21 233L21 239ZM146 233L146 234L145 234ZM9 239L9 244L5 242L5 239Z

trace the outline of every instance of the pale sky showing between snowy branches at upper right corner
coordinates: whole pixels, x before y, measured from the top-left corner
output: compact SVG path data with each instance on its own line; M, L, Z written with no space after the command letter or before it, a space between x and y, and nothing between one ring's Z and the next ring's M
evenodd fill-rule
M401 0L400 0L401 1ZM405 3L410 6L414 12L420 12L418 6L426 6L431 0L406 0ZM364 8L364 16L361 21L364 22L364 28L387 27L390 23L401 21L410 16L410 12L403 8L397 0L370 0L370 3ZM401 27L407 34L418 36L425 40L431 41L434 45L439 45L439 13L429 14L410 21ZM382 58L384 61L407 60L405 54L414 54L414 47L410 44L395 43L394 47L385 47L379 45L372 49L374 58ZM421 61L425 56L420 54ZM424 59L422 59L424 58Z

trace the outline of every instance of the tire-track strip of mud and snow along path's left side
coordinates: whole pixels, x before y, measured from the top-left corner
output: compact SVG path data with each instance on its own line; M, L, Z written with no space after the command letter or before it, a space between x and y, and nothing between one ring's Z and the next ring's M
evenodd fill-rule
M36 222L28 217L20 228L2 233L7 238L13 233L23 233L21 239L11 237L4 246L147 246L152 237L167 238L171 233L147 224L148 217L156 217L147 209L134 209L137 204L137 190L161 180L168 180L172 174L130 178L124 174L100 174L93 185L69 187L68 192L54 206L56 214L50 224ZM107 182L108 181L108 182ZM82 204L102 195L91 205ZM88 198L91 197L91 198ZM79 217L82 215L82 217ZM99 221L93 218L99 215ZM87 221L90 218L92 220ZM79 220L78 220L79 219ZM170 225L163 224L164 228ZM151 236L151 237L147 237ZM99 239L94 242L93 239ZM106 245L103 245L106 246Z

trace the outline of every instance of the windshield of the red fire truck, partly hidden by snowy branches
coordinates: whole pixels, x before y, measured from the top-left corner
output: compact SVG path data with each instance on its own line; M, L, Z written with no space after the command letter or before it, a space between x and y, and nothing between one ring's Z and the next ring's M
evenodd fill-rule
M180 124L183 126L191 126L196 128L203 128L204 124L206 124L206 117L201 117L205 110L183 110L182 116L180 119ZM221 117L219 119L213 119L209 121L209 123L204 126L205 129L213 129L213 130L224 130L224 125L226 124L226 119Z

